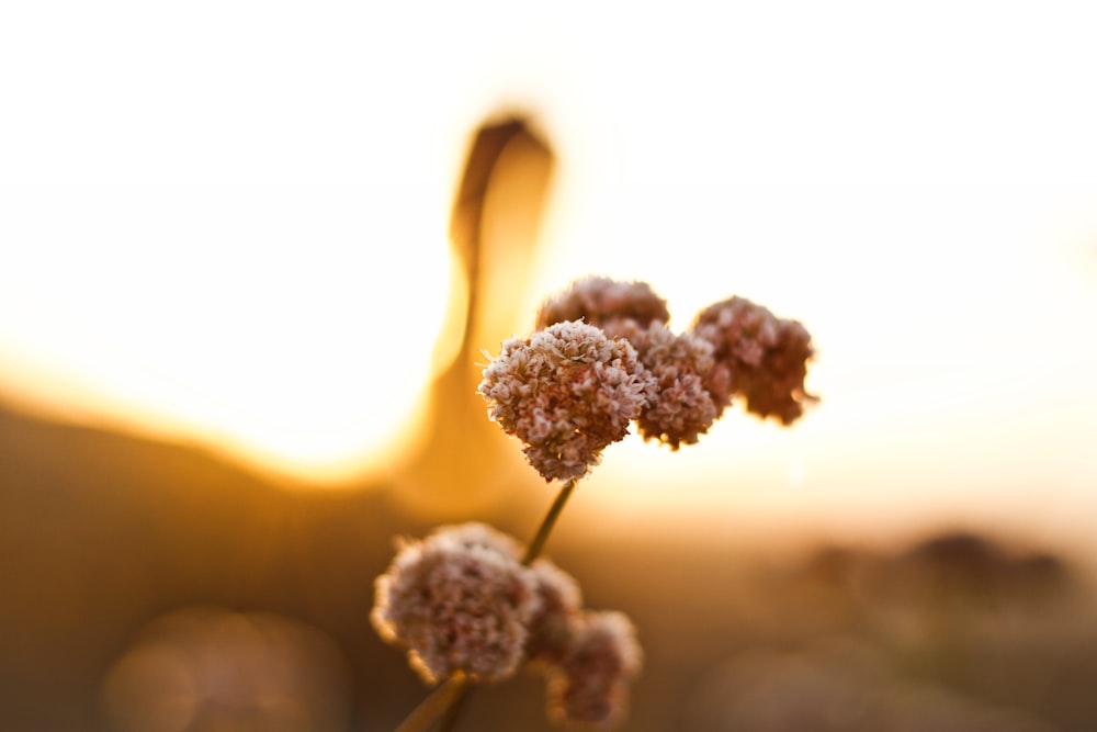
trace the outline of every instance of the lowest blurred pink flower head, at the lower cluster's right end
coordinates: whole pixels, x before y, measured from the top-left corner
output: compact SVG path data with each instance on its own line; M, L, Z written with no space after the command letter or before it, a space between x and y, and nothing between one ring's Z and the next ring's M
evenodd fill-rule
M643 654L632 622L621 612L588 612L572 649L548 682L548 713L580 725L619 723L629 702L629 684Z

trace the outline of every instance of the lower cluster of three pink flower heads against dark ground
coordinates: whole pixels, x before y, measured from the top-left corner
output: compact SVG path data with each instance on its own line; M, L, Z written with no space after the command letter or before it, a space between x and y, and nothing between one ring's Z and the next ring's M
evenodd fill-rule
M473 522L404 542L376 581L372 620L428 683L500 680L531 664L547 675L555 719L614 723L640 672L635 629L581 605L570 575L544 559L523 565L513 539Z

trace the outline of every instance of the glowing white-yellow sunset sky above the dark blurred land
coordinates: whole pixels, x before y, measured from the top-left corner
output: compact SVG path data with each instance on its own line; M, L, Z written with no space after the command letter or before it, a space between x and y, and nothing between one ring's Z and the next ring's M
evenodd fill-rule
M739 294L817 349L793 429L613 446L599 509L1082 536L1092 29L1084 3L7 3L0 394L367 470L431 375L470 135L517 109L558 166L516 333L603 273L672 326Z

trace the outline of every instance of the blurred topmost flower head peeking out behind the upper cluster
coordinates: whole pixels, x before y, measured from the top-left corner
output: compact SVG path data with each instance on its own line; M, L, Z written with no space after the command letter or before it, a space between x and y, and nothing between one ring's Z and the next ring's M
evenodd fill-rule
M538 328L565 320L584 320L601 327L608 320L630 318L641 326L653 320L670 319L667 301L646 282L619 282L604 277L588 277L546 300L538 312Z

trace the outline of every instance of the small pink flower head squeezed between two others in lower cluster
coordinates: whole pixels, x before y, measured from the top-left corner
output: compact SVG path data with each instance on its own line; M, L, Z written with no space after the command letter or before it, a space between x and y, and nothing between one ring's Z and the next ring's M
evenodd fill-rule
M548 560L530 566L541 604L530 621L525 656L531 662L559 663L570 647L583 617L583 594L575 578Z

